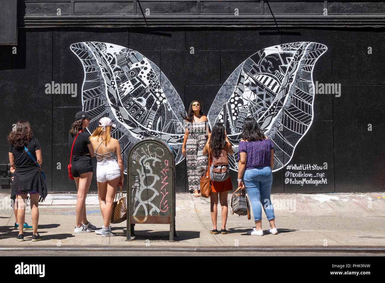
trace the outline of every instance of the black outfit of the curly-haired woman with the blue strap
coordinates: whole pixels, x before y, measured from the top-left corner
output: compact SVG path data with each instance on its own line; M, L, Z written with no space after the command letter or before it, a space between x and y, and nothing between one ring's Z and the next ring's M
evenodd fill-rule
M31 139L27 148L36 160L36 151L41 149L39 141L35 138ZM10 146L9 152L15 157L16 166L13 173L11 198L15 199L19 191L26 190L37 191L45 199L47 196L47 184L45 184L43 174L39 171L31 157L25 152L24 148L17 150Z

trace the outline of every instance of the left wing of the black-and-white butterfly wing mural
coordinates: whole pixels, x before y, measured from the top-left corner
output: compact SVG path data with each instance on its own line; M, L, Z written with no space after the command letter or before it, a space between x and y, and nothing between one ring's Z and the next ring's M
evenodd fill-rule
M119 140L124 170L131 147L146 137L160 137L174 150L176 164L184 159L183 119L186 113L178 93L157 65L139 52L103 42L80 42L70 46L82 62L83 111L116 125L112 136Z

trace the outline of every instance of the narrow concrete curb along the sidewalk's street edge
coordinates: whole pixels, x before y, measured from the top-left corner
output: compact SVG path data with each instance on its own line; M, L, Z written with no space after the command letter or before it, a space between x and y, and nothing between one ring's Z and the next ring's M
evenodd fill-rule
M385 246L0 246L0 251L173 251L173 252L365 252L385 253Z

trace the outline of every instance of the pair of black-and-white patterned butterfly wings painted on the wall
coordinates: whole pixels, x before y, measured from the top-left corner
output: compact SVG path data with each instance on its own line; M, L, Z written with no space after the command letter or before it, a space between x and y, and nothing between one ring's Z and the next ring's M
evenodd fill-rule
M72 44L84 68L83 111L117 127L112 136L122 146L125 173L131 147L146 137L160 137L174 150L176 164L184 159L183 119L178 93L161 70L139 52L103 42ZM229 76L208 113L211 127L225 125L236 162L239 135L246 117L254 117L274 143L273 171L285 166L313 122L313 67L327 47L315 42L276 45L250 56ZM283 119L285 116L285 119Z

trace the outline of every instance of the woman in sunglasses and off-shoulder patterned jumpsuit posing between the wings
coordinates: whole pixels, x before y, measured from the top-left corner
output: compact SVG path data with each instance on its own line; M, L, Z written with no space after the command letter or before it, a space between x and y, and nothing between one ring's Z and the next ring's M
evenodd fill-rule
M203 108L198 101L190 103L186 120L186 131L184 133L182 154L186 156L189 191L194 196L200 196L201 177L204 175L207 157L203 155L203 148L210 136L207 117L203 115Z

